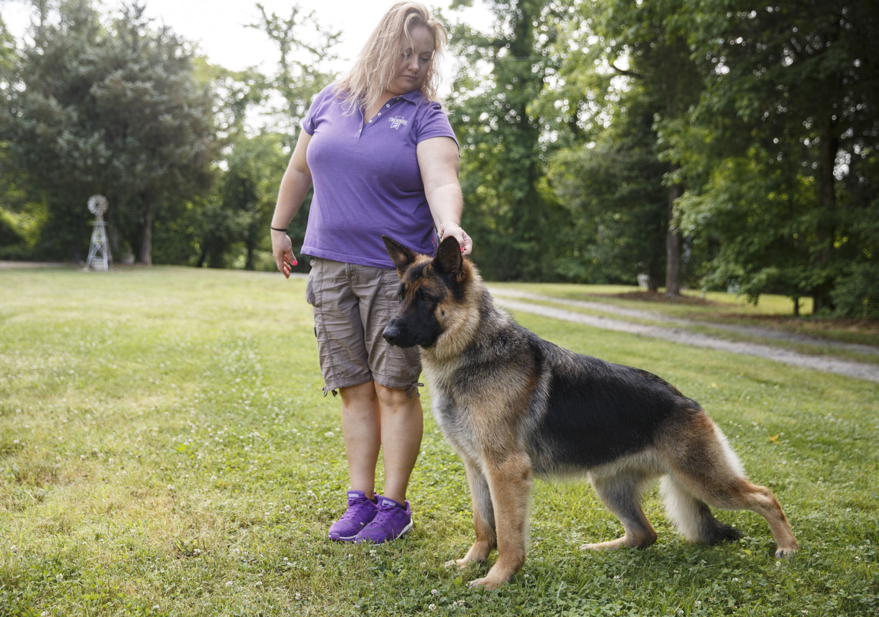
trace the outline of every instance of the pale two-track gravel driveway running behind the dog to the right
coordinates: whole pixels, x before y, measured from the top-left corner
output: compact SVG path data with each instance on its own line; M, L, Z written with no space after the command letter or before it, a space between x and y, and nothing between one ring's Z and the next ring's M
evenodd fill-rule
M643 325L640 323L626 322L613 317L584 315L563 308L547 307L539 304L532 304L532 301L549 301L556 304L567 304L569 306L577 306L579 308L592 308L606 312L613 312L616 315L636 317L640 319L650 319L652 321L660 321L665 323L676 323L678 325L699 324L708 325L712 328L720 328L723 330L734 330L744 334L752 334L754 336L764 338L776 338L799 343L811 343L814 345L825 345L837 348L852 349L858 352L879 353L875 347L869 345L854 345L847 343L839 343L834 341L825 341L824 339L811 338L803 335L791 334L789 332L781 332L779 330L771 330L768 328L759 328L751 326L733 326L719 325L708 322L694 322L685 319L678 319L653 313L650 311L636 310L633 308L620 308L600 302L559 300L557 298L549 298L547 296L527 294L508 289L490 288L490 292L494 295L498 306L511 310L518 310L524 313L533 313L555 319L573 323L583 323L594 328L603 328L605 330L616 330L620 332L629 332L631 334L640 334L645 337L662 338L673 343L685 343L686 345L695 345L697 347L708 347L723 352L742 353L745 355L759 356L760 358L774 359L778 362L794 365L796 367L813 368L818 371L827 373L835 373L846 375L847 377L856 377L858 379L866 379L879 383L879 366L867 364L863 362L854 362L851 360L835 359L826 356L812 356L805 353L799 353L783 349L781 347L773 347L771 345L762 345L759 343L745 343L738 341L728 341L723 338L708 337L703 334L696 334L680 328L663 328L660 326ZM514 298L518 298L516 300ZM523 301L526 300L526 301Z

